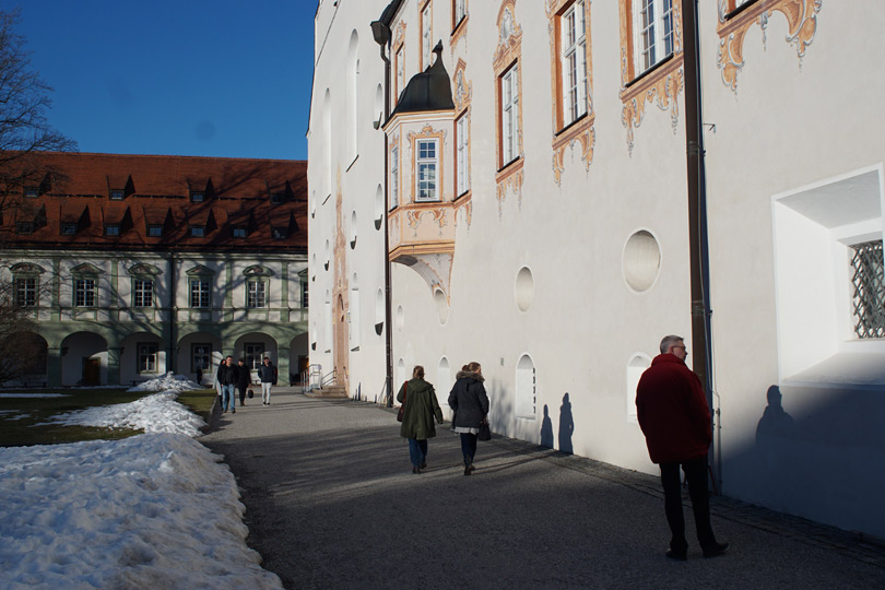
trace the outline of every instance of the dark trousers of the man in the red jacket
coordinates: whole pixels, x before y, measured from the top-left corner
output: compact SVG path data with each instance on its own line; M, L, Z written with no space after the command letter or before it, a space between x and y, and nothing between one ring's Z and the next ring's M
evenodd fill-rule
M692 510L695 514L697 540L701 547L716 544L712 527L710 527L710 498L707 491L707 458L700 457L677 463L661 463L661 484L664 488L664 511L666 522L673 538L670 548L675 553L685 554L688 542L685 540L685 517L682 514L682 482L680 481L680 465L685 471L688 482L688 495L692 497Z

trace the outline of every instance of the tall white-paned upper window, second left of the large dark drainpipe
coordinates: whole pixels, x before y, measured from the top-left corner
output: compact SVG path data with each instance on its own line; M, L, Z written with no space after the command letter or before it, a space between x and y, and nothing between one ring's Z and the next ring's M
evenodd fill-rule
M587 114L587 26L583 0L577 0L559 20L563 121L568 126Z

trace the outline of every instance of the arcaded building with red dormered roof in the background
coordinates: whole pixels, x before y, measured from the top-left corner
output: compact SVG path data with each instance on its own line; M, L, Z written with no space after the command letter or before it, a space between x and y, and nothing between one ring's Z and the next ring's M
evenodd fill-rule
M0 278L35 320L25 384L210 385L226 355L307 364L305 162L38 154L8 194Z

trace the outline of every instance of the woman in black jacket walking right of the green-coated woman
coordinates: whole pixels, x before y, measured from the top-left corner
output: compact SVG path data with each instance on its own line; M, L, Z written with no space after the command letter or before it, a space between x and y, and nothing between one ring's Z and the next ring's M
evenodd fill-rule
M483 368L473 362L464 365L456 376L449 393L449 408L455 411L455 432L461 435L461 453L464 456L464 475L473 472L476 456L476 435L488 415L488 397L483 386Z

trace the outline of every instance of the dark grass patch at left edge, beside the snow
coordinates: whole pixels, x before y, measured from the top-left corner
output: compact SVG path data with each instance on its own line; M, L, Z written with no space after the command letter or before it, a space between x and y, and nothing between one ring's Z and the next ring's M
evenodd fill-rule
M63 398L0 398L0 447L58 445L80 440L116 440L141 434L141 429L99 428L42 424L58 414L96 405L129 403L143 398L144 392L125 389L25 389L2 393L61 393Z

